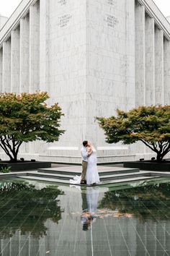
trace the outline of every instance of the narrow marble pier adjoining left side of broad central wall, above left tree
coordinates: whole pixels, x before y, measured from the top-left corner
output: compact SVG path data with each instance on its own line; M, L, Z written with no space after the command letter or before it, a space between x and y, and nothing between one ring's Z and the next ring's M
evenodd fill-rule
M49 3L40 0L40 90L47 90L48 86L48 24Z

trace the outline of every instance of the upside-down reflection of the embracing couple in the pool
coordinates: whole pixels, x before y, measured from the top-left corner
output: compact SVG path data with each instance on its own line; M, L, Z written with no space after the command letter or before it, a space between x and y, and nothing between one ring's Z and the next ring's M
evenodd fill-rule
M99 202L99 195L101 192L106 192L107 189L99 189L99 187L86 187L81 189L82 198L82 213L81 223L83 230L87 231L91 228L92 223L97 220L97 204ZM100 198L102 199L102 198Z

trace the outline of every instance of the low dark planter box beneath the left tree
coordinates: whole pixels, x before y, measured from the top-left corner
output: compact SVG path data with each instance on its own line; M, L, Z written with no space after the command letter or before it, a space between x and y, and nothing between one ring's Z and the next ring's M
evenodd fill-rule
M25 170L36 170L37 168L50 168L50 162L39 162L39 161L19 161L17 163L10 163L9 161L0 162L1 167L8 168L11 167L11 171L25 171Z

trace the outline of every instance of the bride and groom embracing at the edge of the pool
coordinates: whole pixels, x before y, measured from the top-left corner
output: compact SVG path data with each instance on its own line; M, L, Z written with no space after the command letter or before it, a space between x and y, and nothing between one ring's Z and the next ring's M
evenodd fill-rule
M84 140L81 148L82 172L81 176L75 176L70 180L71 184L94 185L99 183L99 174L97 171L97 151L91 146L91 143Z

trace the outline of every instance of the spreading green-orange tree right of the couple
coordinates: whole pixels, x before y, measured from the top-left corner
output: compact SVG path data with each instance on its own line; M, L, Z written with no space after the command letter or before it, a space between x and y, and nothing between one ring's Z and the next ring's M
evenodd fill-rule
M108 143L143 142L153 150L158 162L170 151L170 106L140 106L117 116L98 117Z

